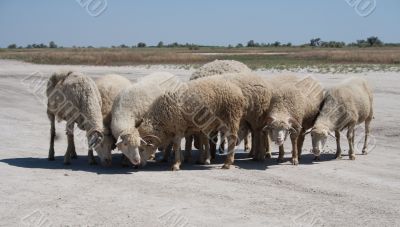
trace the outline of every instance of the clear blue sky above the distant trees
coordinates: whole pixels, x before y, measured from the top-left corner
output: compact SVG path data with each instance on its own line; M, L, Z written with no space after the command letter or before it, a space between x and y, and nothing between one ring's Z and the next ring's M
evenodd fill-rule
M376 1L367 17L346 0L101 1L107 8L93 17L76 0L1 0L0 47L51 40L62 46L160 40L228 45L251 39L301 44L314 37L352 42L372 35L400 42L399 0L362 0Z

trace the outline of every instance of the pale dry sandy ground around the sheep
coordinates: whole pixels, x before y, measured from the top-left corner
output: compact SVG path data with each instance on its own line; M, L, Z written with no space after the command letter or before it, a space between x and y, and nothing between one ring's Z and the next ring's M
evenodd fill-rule
M99 76L119 73L134 80L165 70L187 79L177 67L48 66L0 61L1 226L399 226L400 75L356 74L375 88L371 151L357 160L333 160L334 140L321 162L313 162L307 139L301 165L264 163L239 153L236 167L149 163L141 170L87 164L85 141L77 138L78 160L63 165L64 125L58 124L56 161L47 161L49 122L38 87L41 75L73 69ZM270 76L268 71L258 72ZM25 79L29 75L34 75ZM299 75L304 75L299 73ZM350 74L313 74L330 85ZM34 83L35 84L35 83ZM37 84L37 83L36 83ZM362 137L362 127L356 141ZM343 138L344 154L347 142ZM361 145L358 145L359 147ZM289 145L286 145L290 151ZM286 157L290 157L287 153ZM289 159L288 159L289 161Z

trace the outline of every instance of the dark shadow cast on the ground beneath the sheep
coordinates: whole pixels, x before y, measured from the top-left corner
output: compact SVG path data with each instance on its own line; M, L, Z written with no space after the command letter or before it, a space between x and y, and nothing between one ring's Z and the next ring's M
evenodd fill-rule
M240 169L248 169L248 170L260 170L264 171L268 169L269 166L274 165L291 165L290 162L290 154L286 154L286 159L284 163L277 162L277 153L273 153L273 158L268 159L264 162L253 161L248 157L247 153L238 152L235 155L235 166ZM334 154L323 154L321 155L321 160L319 162L313 161L314 155L312 154L304 154L300 160L300 165L313 165L318 164L324 161L330 161L334 159ZM183 163L181 166L182 171L192 171L192 170L211 170L211 169L219 169L222 167L226 155L217 154L216 160L212 163L212 165L197 165L194 162ZM113 166L112 167L103 167L101 165L89 165L87 162L87 156L79 156L78 159L74 159L71 161L71 165L63 164L63 156L57 156L55 161L48 161L47 158L36 158L36 157L25 157L25 158L9 158L2 159L0 162L6 163L11 166L21 167L21 168L29 168L29 169L66 169L72 171L85 171L85 172L93 172L97 174L132 174L137 171L144 172L154 172L154 171L167 171L170 169L173 159L170 158L169 163L166 162L158 162L158 161L149 161L145 167L123 167L121 163L121 154L113 155ZM193 152L193 160L197 160L198 152ZM159 160L160 157L157 157ZM99 162L99 161L98 161Z

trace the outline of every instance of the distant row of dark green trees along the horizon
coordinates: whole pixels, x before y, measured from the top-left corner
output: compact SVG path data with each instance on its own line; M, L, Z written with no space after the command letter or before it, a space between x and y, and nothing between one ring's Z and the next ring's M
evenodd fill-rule
M258 43L255 42L254 40L250 40L247 42L246 47L291 47L292 43L281 43L279 41L273 42L273 43ZM356 42L353 43L348 43L346 44L345 42L337 42L337 41L322 41L320 38L314 38L311 39L309 43L300 45L302 47L305 46L311 46L311 47L324 47L324 48L342 48L345 46L349 47L379 47L379 46L400 46L400 44L396 43L383 43L378 37L376 36L371 36L365 40L357 40ZM144 42L139 42L137 45L133 46L127 46L125 44L121 44L119 46L111 46L111 48L145 48L147 47L147 44ZM154 47L154 46L153 46ZM200 48L199 45L196 44L190 44L190 43L185 43L185 44L180 44L177 42L170 43L170 44L164 44L164 42L160 41L157 46L158 48L176 48L176 47L185 47L189 48L190 50L198 50ZM245 47L242 43L239 43L236 45L236 48L242 48ZM16 48L24 48L22 46L17 46L16 44L11 44L8 46L9 49L16 49ZM61 46L58 46L54 41L51 41L48 45L45 45L43 43L41 44L29 44L25 48L62 48ZM87 47L76 47L73 46L73 48L93 48L92 46L87 46ZM232 45L229 45L228 48L234 48Z

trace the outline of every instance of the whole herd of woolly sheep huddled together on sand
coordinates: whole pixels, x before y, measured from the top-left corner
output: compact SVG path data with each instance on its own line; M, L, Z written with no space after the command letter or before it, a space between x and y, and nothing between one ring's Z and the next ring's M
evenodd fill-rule
M336 138L341 158L340 132L347 129L349 157L354 155L354 129L365 124L363 154L368 151L373 95L367 81L349 78L323 88L312 77L264 78L237 61L214 61L197 69L183 82L166 72L153 73L131 83L119 75L96 81L77 72L53 74L47 84L50 119L49 160L54 160L55 120L66 121L68 147L64 164L77 157L74 126L86 132L89 163L93 150L101 164L112 164L112 151L123 153L123 164L145 166L157 150L172 170L192 159L199 149L199 164L210 164L217 150L227 155L222 168L234 163L235 148L245 141L254 160L271 158L271 142L279 146L289 138L293 165L299 164L304 139L311 134L315 159L329 136ZM185 138L184 152L181 142ZM216 144L221 140L220 147Z

